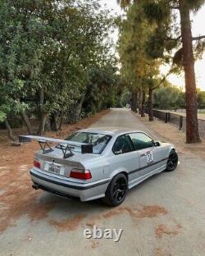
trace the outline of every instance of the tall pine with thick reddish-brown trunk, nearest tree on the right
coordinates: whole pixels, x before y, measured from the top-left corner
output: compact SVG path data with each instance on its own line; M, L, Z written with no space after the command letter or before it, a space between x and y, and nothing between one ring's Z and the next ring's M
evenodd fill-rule
M121 0L122 7L127 7L130 2L129 0ZM152 22L157 22L158 34L155 34L153 39L149 43L154 43L156 46L157 53L155 57L162 57L165 45L171 48L177 48L182 42L182 48L178 48L175 59L177 57L178 63L182 63L185 71L185 95L186 95L186 142L197 143L200 142L198 133L198 117L197 117L197 100L196 100L196 82L194 75L194 49L193 41L199 40L196 49L203 50L204 43L202 40L205 38L204 35L193 37L191 32L191 21L190 11L198 11L203 6L204 0L159 0L156 2L150 1L134 1L136 5L144 2L144 11L147 17ZM180 28L177 27L175 21L175 12L180 11ZM174 30L173 30L174 25ZM179 34L180 29L180 34ZM164 31L164 33L162 33ZM173 37L173 34L175 37ZM179 62L180 59L180 62Z

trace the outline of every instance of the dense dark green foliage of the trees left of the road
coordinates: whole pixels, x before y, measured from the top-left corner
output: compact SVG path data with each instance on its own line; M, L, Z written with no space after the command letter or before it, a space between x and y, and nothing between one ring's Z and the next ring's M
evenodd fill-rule
M105 91L115 86L107 37L113 21L98 0L0 0L0 16L0 121L25 110L39 118L61 112L71 121L76 108L78 119L90 66L103 73ZM100 89L86 111L107 107L104 94Z

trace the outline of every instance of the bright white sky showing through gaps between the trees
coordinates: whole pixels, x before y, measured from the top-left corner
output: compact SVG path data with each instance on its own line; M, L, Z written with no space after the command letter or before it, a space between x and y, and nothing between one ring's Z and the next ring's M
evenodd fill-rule
M122 14L121 7L116 3L116 0L101 0L102 5L106 4L108 9L112 9L113 13L118 15ZM198 11L196 15L192 15L192 33L193 36L198 36L205 34L205 5ZM114 41L117 40L117 31L112 34ZM162 72L166 73L166 68L162 68ZM203 53L203 58L195 62L195 75L197 87L199 89L205 90L205 53ZM182 75L170 75L169 79L171 84L185 87L185 79Z

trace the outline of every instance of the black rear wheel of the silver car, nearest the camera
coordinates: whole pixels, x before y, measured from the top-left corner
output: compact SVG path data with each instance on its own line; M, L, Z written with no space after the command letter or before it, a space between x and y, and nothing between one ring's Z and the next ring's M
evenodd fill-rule
M127 177L120 173L112 179L107 187L104 202L110 206L120 205L126 197L128 189Z

